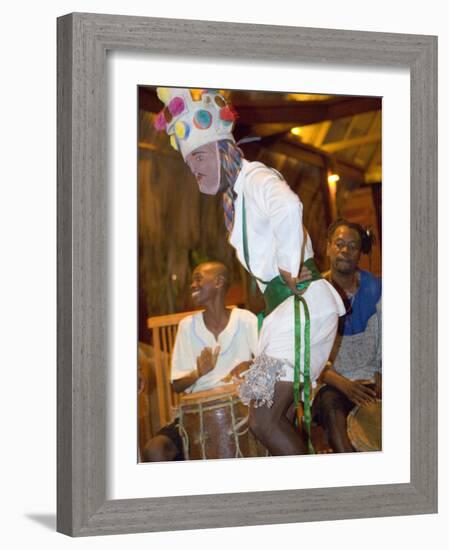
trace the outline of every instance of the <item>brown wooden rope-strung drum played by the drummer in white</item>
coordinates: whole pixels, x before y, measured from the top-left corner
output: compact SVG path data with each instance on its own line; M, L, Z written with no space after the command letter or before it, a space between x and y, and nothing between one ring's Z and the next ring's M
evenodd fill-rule
M233 384L182 396L178 425L185 459L267 456L248 414Z

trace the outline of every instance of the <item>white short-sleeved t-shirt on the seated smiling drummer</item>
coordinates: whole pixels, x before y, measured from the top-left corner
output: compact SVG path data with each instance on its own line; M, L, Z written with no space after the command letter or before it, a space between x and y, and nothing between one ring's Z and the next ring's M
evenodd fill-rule
M226 328L218 339L206 328L203 313L185 317L178 327L172 354L171 380L183 378L196 368L197 357L206 347L220 354L213 370L199 378L186 392L209 390L224 385L222 379L242 361L252 359L257 351L257 317L245 309L231 310Z

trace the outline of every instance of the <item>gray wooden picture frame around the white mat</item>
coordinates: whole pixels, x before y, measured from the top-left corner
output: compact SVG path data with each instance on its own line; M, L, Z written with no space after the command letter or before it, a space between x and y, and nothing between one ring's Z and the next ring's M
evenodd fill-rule
M85 536L436 512L437 38L82 13L57 25L58 531ZM106 499L108 50L410 69L410 483Z

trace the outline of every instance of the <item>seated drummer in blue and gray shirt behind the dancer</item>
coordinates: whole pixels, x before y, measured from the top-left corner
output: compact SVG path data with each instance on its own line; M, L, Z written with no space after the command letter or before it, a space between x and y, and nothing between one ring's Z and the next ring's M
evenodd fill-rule
M331 268L323 276L340 293L347 314L319 379L325 386L313 406L338 453L354 451L347 434L348 413L381 395L381 280L358 267L360 255L371 248L372 235L359 224L339 219L329 227Z

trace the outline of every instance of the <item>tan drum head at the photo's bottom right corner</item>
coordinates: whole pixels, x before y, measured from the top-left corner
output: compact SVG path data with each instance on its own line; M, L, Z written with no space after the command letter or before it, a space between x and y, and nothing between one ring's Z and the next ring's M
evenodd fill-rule
M354 407L348 414L348 437L356 451L382 450L382 401Z

